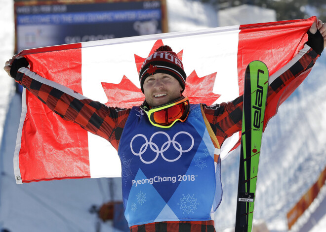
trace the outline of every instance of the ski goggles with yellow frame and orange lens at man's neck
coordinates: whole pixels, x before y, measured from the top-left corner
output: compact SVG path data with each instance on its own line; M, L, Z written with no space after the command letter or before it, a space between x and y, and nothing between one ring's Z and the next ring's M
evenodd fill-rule
M142 109L147 114L152 125L161 128L170 128L177 121L184 122L187 119L189 108L188 97L181 97L173 102L155 106L149 110L146 106Z

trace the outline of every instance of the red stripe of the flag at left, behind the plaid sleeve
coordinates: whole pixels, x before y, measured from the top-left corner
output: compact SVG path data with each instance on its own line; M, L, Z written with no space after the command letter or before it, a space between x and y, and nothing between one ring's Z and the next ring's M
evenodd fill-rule
M32 71L82 94L81 44L30 49L21 55L38 64L32 65ZM54 62L58 60L59 64ZM19 153L22 182L89 178L87 132L63 120L28 91L26 104Z

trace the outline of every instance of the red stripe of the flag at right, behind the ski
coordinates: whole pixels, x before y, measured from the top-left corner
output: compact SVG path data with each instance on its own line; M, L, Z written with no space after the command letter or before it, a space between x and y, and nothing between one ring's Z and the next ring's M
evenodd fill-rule
M299 50L304 47L308 35L306 34L316 17L304 20L288 20L280 22L248 24L240 26L238 45L238 81L239 92L243 94L244 72L246 66L255 60L264 62L271 76L282 66L290 61ZM306 76L306 75L305 75ZM291 83L287 87L288 93L294 89L304 79ZM282 95L282 93L280 93ZM267 105L264 127L268 120L273 117L279 104L281 104L289 94L270 99Z

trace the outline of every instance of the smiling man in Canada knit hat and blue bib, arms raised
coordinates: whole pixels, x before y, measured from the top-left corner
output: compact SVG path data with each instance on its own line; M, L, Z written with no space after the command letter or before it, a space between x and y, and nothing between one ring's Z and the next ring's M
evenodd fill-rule
M326 24L316 21L299 59L283 72L268 96L283 91L312 68L326 46ZM13 59L15 56L13 57ZM222 198L219 148L242 125L242 96L207 106L182 96L186 74L168 46L143 63L139 80L145 101L131 109L107 107L43 84L25 58L4 69L62 118L98 134L117 149L122 162L125 217L132 232L213 232L211 218ZM279 83L279 84L278 84ZM60 101L59 101L60 99ZM267 104L270 97L267 99ZM122 131L123 129L123 131Z

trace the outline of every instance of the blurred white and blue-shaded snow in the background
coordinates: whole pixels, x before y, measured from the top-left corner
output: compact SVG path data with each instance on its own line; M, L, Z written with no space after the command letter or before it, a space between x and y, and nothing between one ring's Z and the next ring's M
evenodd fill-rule
M167 0L169 31L218 26L208 4ZM0 0L0 64L13 52L13 2ZM279 108L263 135L254 222L270 232L287 231L286 213L326 167L326 56L317 61L303 84ZM0 72L0 229L21 231L115 231L89 209L121 200L121 179L76 179L16 185L13 151L21 111L13 80ZM235 220L239 150L222 163L223 200L215 213L218 232L231 232ZM110 191L111 187L114 191ZM293 232L326 228L326 187L294 226ZM117 230L116 230L117 231Z

